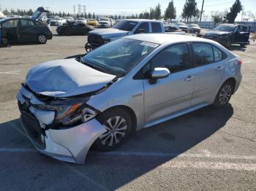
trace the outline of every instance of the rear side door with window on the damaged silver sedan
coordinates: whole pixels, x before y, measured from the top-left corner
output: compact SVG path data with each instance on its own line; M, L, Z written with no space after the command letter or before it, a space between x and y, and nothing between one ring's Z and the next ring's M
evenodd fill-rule
M192 43L195 66L195 89L192 106L211 104L225 71L225 55L219 48L206 43Z

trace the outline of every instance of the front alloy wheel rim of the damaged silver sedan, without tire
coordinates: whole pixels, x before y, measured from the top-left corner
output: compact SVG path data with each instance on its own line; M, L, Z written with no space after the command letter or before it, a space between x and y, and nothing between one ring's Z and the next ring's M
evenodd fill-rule
M105 146L118 144L127 133L127 121L121 116L110 117L103 125L107 131L99 136L99 140Z

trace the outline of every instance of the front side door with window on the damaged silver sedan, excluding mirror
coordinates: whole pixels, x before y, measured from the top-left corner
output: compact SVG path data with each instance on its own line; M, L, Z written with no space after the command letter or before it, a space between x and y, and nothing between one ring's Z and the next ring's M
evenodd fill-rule
M152 58L144 70L147 72L154 68L167 68L170 75L157 79L154 84L149 79L143 79L146 126L187 109L195 85L187 43L165 48Z

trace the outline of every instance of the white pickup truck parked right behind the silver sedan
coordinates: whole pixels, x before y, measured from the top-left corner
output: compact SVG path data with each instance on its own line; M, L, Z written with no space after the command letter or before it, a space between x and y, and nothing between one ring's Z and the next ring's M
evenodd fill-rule
M124 19L112 28L99 29L89 32L85 48L88 52L121 37L141 33L165 33L162 21L144 19Z

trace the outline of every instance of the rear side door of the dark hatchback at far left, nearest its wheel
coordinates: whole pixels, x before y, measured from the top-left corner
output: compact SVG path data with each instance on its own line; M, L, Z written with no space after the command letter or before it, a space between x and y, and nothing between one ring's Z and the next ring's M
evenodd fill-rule
M20 19L18 34L21 42L34 42L37 39L37 28L34 20Z

